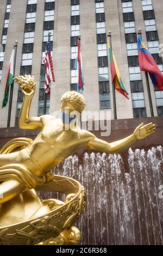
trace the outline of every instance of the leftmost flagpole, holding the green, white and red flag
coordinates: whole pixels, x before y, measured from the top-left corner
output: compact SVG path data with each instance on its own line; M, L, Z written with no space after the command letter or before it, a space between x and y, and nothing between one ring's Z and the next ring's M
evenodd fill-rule
M15 45L14 45L14 74L13 76L15 77L15 66L16 66L16 54L17 54L17 44L18 41L15 41ZM13 97L13 92L14 92L14 80L10 86L10 100L9 100L9 111L8 111L8 123L7 123L7 127L10 127L10 120L11 120L11 109L12 109L12 97Z

